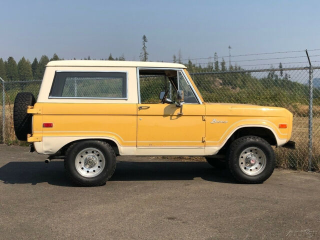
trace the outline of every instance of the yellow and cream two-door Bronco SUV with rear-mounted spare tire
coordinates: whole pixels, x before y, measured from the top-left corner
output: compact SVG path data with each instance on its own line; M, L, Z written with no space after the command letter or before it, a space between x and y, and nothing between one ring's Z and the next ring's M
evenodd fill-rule
M182 64L61 60L46 65L35 101L20 92L14 130L30 150L64 159L77 184L104 184L116 155L205 156L240 182L266 180L271 145L289 141L292 114L280 107L204 102ZM235 93L236 94L236 93Z

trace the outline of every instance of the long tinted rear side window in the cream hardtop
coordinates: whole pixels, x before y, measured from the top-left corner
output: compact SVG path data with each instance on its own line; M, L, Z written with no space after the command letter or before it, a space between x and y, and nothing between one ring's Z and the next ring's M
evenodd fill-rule
M127 73L56 71L49 97L127 99Z

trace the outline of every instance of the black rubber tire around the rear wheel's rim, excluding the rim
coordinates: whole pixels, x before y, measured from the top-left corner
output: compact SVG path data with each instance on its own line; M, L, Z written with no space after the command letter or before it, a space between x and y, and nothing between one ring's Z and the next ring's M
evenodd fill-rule
M79 173L75 166L75 159L81 150L86 148L98 149L105 159L104 168L96 176L86 177ZM112 176L115 170L115 153L112 147L103 141L86 140L73 143L66 151L64 158L64 168L69 178L80 186L100 186Z

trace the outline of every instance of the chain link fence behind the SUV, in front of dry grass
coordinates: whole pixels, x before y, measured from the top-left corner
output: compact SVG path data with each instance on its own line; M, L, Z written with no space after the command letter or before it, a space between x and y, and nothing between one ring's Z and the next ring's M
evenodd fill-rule
M277 164L284 168L303 170L309 170L311 164L313 170L320 170L320 67L313 67L313 70L309 67L291 67L193 72L190 75L206 102L279 106L290 110L293 113L291 139L296 142L296 149L276 148ZM158 92L163 90L162 85L166 83L164 84L165 81L158 76L148 76L148 78L149 81L144 79L140 82L140 87L145 85L148 89L153 89L158 85L159 89L154 94L141 89L141 98L149 99L154 95L157 97L154 101L158 102ZM310 88L312 82L313 86ZM14 136L12 116L15 95L20 91L29 91L37 97L40 83L40 80L2 81L0 98L2 142L8 144L18 142ZM312 114L309 110L310 99L313 102Z

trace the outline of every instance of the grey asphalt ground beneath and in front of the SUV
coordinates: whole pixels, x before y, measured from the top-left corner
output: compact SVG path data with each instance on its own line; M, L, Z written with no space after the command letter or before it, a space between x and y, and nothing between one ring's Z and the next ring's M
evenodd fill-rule
M118 157L99 187L0 145L0 239L320 239L320 174L237 184L206 162Z

